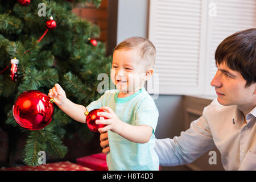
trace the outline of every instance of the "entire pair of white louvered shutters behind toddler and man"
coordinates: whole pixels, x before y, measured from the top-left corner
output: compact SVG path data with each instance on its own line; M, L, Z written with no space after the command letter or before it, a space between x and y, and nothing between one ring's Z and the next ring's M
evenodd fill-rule
M216 5L210 16L209 4ZM214 52L238 30L255 27L255 0L151 0L148 38L156 47L154 94L214 96Z

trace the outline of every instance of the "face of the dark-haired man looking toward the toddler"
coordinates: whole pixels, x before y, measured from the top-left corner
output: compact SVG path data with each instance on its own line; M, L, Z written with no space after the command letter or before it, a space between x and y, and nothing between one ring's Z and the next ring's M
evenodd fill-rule
M255 100L256 83L245 88L246 80L240 72L224 64L217 65L217 72L210 85L215 87L221 105L245 105Z

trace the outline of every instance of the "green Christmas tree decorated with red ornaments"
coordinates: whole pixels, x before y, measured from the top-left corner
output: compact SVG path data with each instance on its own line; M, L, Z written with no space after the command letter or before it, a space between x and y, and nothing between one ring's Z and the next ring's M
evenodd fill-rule
M71 12L74 3L88 2L98 7L101 0L0 1L0 127L14 138L27 133L23 155L27 165L38 165L39 151L63 158L68 148L62 139L74 132L85 139L93 135L86 125L73 121L56 106L51 123L33 131L20 127L12 111L19 94L27 90L48 94L56 83L76 104L86 106L100 97L97 76L109 75L112 58L105 56L104 43L95 46L90 42L99 36L100 28ZM46 26L51 16L56 27ZM13 77L11 59L19 60Z

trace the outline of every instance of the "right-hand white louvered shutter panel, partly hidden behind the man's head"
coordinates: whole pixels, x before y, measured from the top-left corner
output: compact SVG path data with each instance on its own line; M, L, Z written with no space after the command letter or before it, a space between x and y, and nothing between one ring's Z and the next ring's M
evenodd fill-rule
M215 51L218 46L229 35L237 31L255 28L256 3L255 0L215 0L216 16L208 19L208 50L207 70L205 76L205 95L216 95L210 81L214 77L217 68L215 65Z

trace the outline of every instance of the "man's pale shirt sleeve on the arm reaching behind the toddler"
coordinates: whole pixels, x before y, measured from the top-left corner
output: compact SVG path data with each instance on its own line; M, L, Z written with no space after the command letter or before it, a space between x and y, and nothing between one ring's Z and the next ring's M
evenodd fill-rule
M173 139L158 139L155 151L162 166L188 164L214 148L214 142L204 116L191 123L188 130Z

